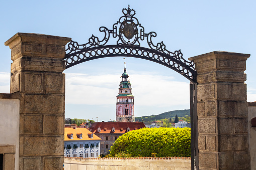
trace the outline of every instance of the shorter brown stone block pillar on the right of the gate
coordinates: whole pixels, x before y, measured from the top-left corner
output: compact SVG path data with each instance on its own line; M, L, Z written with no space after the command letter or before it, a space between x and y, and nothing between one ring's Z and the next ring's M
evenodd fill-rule
M214 51L189 58L198 73L200 169L250 169L244 84L249 56Z

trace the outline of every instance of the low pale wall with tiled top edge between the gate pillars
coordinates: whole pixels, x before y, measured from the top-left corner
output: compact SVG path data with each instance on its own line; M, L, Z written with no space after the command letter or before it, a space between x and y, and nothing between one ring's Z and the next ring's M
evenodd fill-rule
M65 157L65 170L97 169L172 169L190 170L190 157Z

